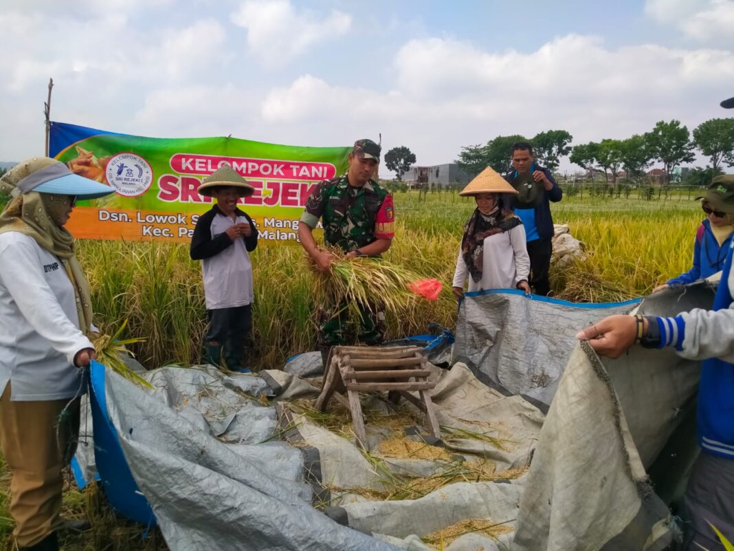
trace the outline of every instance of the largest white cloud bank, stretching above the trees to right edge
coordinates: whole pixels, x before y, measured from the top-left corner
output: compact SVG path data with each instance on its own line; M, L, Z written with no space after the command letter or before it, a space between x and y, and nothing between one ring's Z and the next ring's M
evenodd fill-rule
M731 95L734 52L607 48L598 37L568 35L527 54L495 53L428 38L406 43L393 70L389 92L300 76L271 90L262 116L303 140L331 135L327 143L349 143L382 132L386 147L408 145L427 164L501 134L567 129L583 143L647 132L672 118L692 130L724 116L718 103Z

